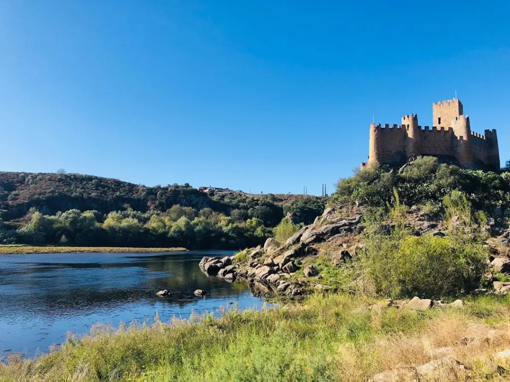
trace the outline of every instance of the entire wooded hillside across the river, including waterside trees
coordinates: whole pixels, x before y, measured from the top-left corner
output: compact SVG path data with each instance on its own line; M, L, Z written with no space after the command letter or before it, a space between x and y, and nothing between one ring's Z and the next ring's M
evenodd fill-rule
M0 243L239 249L262 243L286 216L293 224L311 223L326 201L0 172Z

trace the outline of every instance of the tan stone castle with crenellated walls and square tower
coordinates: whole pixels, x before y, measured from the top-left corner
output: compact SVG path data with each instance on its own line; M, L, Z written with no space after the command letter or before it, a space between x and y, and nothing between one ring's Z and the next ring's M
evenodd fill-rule
M485 135L472 132L458 98L433 103L432 118L439 127L422 129L416 114L403 116L400 126L370 124L368 162L362 168L372 163L396 166L429 155L466 168L499 171L496 129L486 130Z

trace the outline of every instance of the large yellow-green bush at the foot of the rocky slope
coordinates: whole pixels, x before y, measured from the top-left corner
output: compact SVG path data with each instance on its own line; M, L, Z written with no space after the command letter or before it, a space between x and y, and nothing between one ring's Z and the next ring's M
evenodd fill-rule
M446 198L447 210L471 217L471 205L462 193ZM447 237L410 235L404 224L398 194L388 215L367 215L366 250L361 267L378 294L441 298L478 288L486 269L487 253L474 219L452 229ZM462 229L461 229L462 228Z

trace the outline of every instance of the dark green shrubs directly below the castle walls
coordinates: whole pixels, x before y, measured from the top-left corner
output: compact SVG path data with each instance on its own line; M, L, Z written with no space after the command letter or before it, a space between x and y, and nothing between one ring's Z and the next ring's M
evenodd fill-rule
M510 175L480 170L461 169L439 164L437 158L418 157L400 170L370 166L342 179L331 198L334 205L386 207L392 189L407 206L440 205L452 191L464 193L476 210L491 214L495 207L510 208Z

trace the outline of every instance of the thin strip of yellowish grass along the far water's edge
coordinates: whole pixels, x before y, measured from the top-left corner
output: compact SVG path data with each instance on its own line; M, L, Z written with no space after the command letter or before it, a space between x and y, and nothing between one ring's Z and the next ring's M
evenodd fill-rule
M61 246L30 246L0 245L0 254L29 253L75 253L75 252L167 252L185 251L186 248L131 248L131 247L61 247Z

